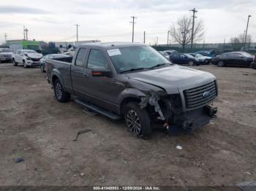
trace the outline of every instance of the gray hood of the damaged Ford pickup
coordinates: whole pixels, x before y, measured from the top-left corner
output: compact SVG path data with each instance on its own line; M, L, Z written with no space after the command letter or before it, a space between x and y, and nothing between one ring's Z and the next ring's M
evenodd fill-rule
M127 74L129 78L161 87L167 94L180 93L216 79L213 74L184 66L168 66L162 69Z

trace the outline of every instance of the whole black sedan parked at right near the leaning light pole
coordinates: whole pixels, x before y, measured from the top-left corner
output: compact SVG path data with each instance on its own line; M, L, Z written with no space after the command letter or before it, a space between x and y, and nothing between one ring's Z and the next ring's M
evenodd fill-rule
M251 66L253 56L247 52L227 52L213 58L212 63L222 66Z

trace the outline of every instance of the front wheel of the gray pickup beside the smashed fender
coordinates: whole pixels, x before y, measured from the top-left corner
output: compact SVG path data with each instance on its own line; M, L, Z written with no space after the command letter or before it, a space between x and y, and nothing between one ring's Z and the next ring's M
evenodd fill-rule
M151 124L146 109L140 109L136 102L129 102L124 108L124 118L129 132L146 139L151 135Z

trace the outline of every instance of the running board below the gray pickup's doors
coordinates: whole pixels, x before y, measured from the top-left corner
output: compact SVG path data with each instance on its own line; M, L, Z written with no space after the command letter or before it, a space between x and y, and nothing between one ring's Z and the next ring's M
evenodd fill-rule
M99 114L102 114L106 117L109 117L111 120L120 120L121 117L118 116L117 114L114 114L112 112L108 112L105 109L102 109L98 106L95 106L94 104L89 104L88 102L85 101L81 101L79 99L74 99L75 103L81 104L82 106L85 106L86 108L89 108L91 110L93 110L94 112L97 112Z

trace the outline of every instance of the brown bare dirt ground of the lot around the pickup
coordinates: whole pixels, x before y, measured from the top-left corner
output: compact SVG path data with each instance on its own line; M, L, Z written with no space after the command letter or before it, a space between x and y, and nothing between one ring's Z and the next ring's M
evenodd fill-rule
M39 69L0 64L0 185L233 185L256 179L256 70L199 66L219 83L218 117L149 140L124 122L58 103ZM81 134L82 129L91 132ZM180 145L183 149L178 150ZM15 163L16 157L24 161Z

